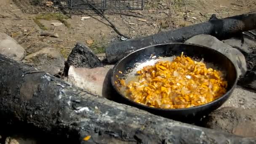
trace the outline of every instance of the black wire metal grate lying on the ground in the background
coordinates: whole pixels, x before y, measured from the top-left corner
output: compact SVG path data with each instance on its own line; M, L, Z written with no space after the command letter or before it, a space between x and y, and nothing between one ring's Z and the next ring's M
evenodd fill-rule
M13 0L24 13L54 12L61 10L142 10L144 0Z

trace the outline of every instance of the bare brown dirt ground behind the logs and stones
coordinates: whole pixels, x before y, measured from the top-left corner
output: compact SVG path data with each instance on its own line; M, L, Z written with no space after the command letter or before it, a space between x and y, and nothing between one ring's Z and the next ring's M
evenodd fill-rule
M65 24L53 26L51 24L57 20L37 19L40 14L24 13L22 8L12 0L0 0L0 32L17 40L27 55L52 47L67 58L77 41L87 43L96 53L103 53L109 43L120 40L109 23L93 11L73 15L72 19L67 19L67 27ZM255 0L146 0L143 11L106 11L106 17L123 35L135 38L207 21L212 14L224 18L255 9ZM91 18L81 20L83 16ZM59 37L40 36L43 29L35 19Z

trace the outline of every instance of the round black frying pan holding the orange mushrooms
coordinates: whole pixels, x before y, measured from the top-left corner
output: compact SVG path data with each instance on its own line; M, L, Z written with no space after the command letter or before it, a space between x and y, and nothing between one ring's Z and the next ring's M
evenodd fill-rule
M149 107L143 104L136 103L125 97L124 87L120 88L115 84L118 78L125 80L125 83L132 80L136 71L147 65L153 65L156 61L169 60L174 56L180 56L184 52L185 56L189 56L194 60L200 61L204 59L207 67L221 70L225 74L228 83L227 93L210 103L203 104L197 107L183 108L183 109L161 109ZM152 56L152 54L154 56ZM120 73L122 72L122 73ZM117 78L117 76L118 78ZM237 70L233 62L224 54L202 45L185 44L185 43L166 43L159 45L152 45L146 48L141 48L133 51L120 59L114 66L111 76L111 83L115 91L117 91L117 99L123 101L125 104L146 110L155 115L168 117L173 120L187 121L194 120L203 115L208 115L213 110L219 108L231 95L237 83Z

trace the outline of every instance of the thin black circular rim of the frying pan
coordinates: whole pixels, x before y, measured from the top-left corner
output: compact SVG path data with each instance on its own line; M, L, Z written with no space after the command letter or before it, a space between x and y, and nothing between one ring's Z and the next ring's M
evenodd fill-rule
M126 96L124 96L122 93L120 93L120 91L117 90L117 87L115 86L115 82L114 82L114 75L115 75L115 69L117 67L117 65L123 60L125 59L126 57L130 56L131 54L133 53L136 53L137 51L141 51L143 49L146 49L146 48L149 48L149 47L154 47L154 46L157 46L157 45L170 45L170 44L181 44L181 45L195 45L195 46L200 46L200 47L203 47L203 48L207 48L207 49L211 49L212 51L215 51L216 53L219 53L220 55L226 57L230 62L231 64L233 65L233 67L235 67L235 74L236 74L236 79L235 79L235 83L232 85L232 87L229 89L229 91L227 91L225 94L223 94L222 96L220 96L218 99L215 99L214 101L211 101L209 103L206 103L206 104L202 104L202 105L199 105L199 106L196 106L196 107L189 107L189 108L182 108L182 109L163 109L163 108L155 108L155 107L149 107L147 105L144 105L144 104L139 104L135 101L132 101L131 99L128 99ZM219 52L219 51L216 51L215 49L213 48L209 48L207 46L204 46L204 45L197 45L197 44L192 44L192 43L161 43L161 44L156 44L156 45L149 45L147 47L144 47L144 48L139 48L138 50L136 51L133 51L131 53L128 53L126 56L124 56L122 59L120 59L119 61L117 61L117 63L115 64L115 66L113 67L113 70L112 70L112 74L111 74L111 84L113 86L113 88L115 89L115 91L120 95L122 96L124 99L128 100L129 102L131 102L132 104L135 104L135 105L138 105L140 107L144 107L144 108L147 108L147 109L152 109L152 110L160 110L160 111L173 111L173 112L179 112L179 111L185 111L185 110L193 110L193 109L200 109L202 107L205 107L205 106L208 106L208 105L211 105L211 104L214 104L214 103L218 103L221 99L224 99L224 97L226 97L226 95L228 95L229 93L232 93L232 91L234 90L235 86L237 85L237 81L238 81L238 73L237 73L237 67L235 66L235 64L233 63L233 61L231 61L231 59L229 59L227 56L225 56L223 53ZM228 96L229 97L229 96ZM228 99L228 98L227 98Z

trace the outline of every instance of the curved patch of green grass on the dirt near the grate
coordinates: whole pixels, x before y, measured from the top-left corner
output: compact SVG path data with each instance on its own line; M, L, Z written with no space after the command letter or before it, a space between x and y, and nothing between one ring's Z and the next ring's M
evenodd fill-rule
M40 19L44 19L47 21L50 20L58 20L61 23L63 23L67 28L71 27L71 24L69 24L66 20L69 19L68 16L62 14L62 13L41 13L40 15L37 15L34 19L35 23L43 30L47 30L47 28L40 23Z

